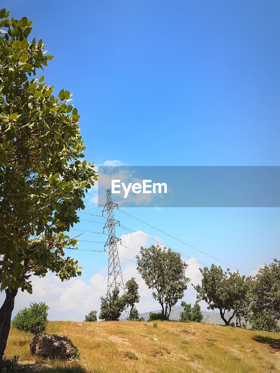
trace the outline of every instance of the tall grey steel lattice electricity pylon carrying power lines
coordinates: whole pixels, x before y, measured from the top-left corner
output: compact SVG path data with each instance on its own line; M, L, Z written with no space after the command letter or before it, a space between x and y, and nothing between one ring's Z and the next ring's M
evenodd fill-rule
M124 280L122 279L121 264L119 263L119 254L117 248L117 242L121 241L120 238L116 237L115 225L119 224L119 221L115 220L113 209L118 207L117 203L112 202L111 190L107 190L106 205L102 211L107 211L107 221L103 229L108 228L108 239L104 245L109 246L108 250L108 282L107 282L107 293L115 288L119 289L120 295L125 293ZM105 250L105 249L104 249ZM126 309L122 314L122 319L127 319L128 310Z

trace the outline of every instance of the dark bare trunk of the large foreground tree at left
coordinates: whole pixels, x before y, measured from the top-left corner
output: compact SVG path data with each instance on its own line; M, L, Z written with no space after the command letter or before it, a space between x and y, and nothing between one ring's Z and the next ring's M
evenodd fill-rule
M14 288L11 292L6 289L5 292L6 299L0 308L0 362L3 359L10 332L12 311L15 305L15 296L18 293L18 289Z

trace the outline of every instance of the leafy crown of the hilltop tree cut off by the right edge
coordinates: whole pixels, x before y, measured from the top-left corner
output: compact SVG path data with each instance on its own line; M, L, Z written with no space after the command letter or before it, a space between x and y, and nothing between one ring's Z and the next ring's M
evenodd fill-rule
M280 319L280 260L259 269L252 282L252 311L267 311Z

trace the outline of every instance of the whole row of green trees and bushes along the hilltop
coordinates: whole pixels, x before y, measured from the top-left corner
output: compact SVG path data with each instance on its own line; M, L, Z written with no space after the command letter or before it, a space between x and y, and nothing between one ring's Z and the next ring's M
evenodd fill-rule
M149 289L153 289L153 298L161 306L161 314L152 313L154 319L169 320L171 308L183 298L190 279L186 277L187 264L179 253L171 249L152 245L141 247L137 258L137 270ZM201 284L193 285L197 291L197 302L205 301L209 310L218 309L225 325L277 332L277 320L280 319L280 261L264 266L255 277L240 276L239 272L223 271L212 264L210 268L200 269ZM130 307L129 319L139 319L135 304L139 302L138 284L135 278L126 285L126 293L119 297L119 290L113 290L101 297L102 320L118 320L121 312ZM181 320L201 321L200 307L182 302L184 311ZM244 320L244 321L242 321Z

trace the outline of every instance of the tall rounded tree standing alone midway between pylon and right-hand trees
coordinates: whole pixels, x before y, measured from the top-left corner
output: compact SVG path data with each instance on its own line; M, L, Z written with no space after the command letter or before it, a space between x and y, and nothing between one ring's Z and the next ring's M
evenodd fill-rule
M149 289L153 291L153 298L162 308L162 318L169 320L171 307L184 296L190 281L185 276L187 264L181 260L179 253L170 248L162 249L152 245L141 247L140 256L136 256L137 270Z

